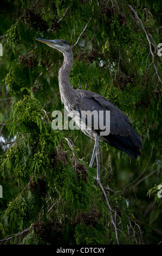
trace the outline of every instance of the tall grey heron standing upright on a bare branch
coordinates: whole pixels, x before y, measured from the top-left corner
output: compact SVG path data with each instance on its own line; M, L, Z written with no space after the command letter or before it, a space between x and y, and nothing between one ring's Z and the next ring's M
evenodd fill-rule
M73 66L73 51L67 41L46 40L37 38L36 40L47 44L63 53L64 62L59 70L59 88L61 101L66 107L68 114L72 117L72 112L78 114L73 118L79 124L83 133L95 140L92 158L89 167L92 167L95 156L97 163L97 179L100 181L100 149L99 140L104 141L113 147L126 152L129 156L137 158L140 155L139 149L142 148L141 138L133 129L127 116L117 108L111 101L99 94L87 90L74 89L69 81L70 70ZM110 132L109 135L100 136L100 128L92 129L81 120L81 111L93 112L110 111ZM103 119L105 115L103 115ZM102 120L105 123L105 120Z

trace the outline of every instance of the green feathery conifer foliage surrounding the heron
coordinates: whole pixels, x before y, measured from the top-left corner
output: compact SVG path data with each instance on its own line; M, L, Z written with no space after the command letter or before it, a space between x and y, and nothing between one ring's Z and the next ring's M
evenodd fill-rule
M160 1L1 4L1 242L96 245L115 244L117 236L120 244L159 243ZM101 182L117 235L94 179L96 168L88 167L93 141L78 130L51 128L51 113L63 111L58 86L63 56L35 38L64 39L72 46L79 39L72 86L107 97L142 138L137 160L101 144Z

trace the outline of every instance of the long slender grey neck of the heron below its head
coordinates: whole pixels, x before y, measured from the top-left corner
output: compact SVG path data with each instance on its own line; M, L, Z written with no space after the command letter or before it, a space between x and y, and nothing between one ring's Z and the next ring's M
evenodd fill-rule
M61 101L66 105L70 99L72 100L74 89L69 81L70 70L73 66L73 53L72 51L64 55L64 62L59 70L59 88Z

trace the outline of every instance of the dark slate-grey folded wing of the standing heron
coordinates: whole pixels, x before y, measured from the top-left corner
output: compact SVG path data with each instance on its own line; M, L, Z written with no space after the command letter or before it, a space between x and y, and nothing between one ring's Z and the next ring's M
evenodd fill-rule
M108 136L101 137L103 137L104 141L108 144L126 152L134 158L140 155L139 149L142 148L141 138L133 129L128 117L119 108L105 97L85 90L77 90L76 99L76 109L80 113L82 110L89 110L91 112L96 110L98 113L99 111L110 111L110 133ZM103 120L104 125L105 123L106 121ZM100 129L98 129L98 131L100 131Z

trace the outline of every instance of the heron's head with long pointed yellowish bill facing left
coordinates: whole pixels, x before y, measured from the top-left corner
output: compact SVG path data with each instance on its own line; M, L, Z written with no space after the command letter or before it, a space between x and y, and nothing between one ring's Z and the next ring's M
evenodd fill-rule
M36 38L37 41L43 42L44 44L57 49L58 51L66 54L72 51L72 48L69 46L68 42L65 40L46 40L41 38Z

